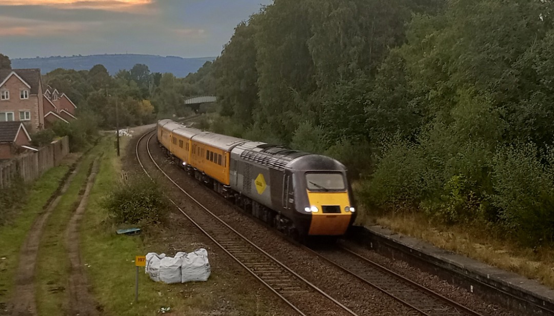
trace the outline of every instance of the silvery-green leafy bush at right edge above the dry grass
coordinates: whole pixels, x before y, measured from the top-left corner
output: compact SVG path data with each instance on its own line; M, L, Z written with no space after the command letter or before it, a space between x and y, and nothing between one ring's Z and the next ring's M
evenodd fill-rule
M494 157L491 203L506 230L523 244L554 241L554 149L505 147Z

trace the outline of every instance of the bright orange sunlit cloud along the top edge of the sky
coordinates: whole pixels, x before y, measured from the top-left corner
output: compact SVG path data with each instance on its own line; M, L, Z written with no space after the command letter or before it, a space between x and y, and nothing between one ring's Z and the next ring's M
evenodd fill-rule
M153 0L2 0L2 6L48 6L64 9L124 11L152 4Z

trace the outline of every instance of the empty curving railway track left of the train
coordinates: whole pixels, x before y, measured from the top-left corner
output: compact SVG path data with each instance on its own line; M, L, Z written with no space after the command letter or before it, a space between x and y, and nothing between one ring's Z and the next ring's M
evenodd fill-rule
M142 170L149 176L146 166L143 164L139 146L147 136L146 149L148 156L156 169L170 180L181 192L187 195L198 207L184 212L181 207L171 200L178 210L188 218L201 232L217 244L225 253L233 258L240 266L258 279L271 292L288 304L300 315L353 315L355 312L332 298L314 284L292 271L278 259L256 246L248 238L234 230L227 223L208 210L188 192L183 190L169 175L164 172L153 159L148 144L155 135L147 132L137 141L135 152ZM306 302L311 302L307 305Z

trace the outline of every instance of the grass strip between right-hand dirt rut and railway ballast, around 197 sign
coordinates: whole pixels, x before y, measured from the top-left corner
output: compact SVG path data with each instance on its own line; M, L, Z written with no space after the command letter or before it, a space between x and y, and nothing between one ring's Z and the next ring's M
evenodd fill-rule
M155 315L161 307L170 306L172 310L182 310L187 302L178 299L179 292L169 292L171 287L166 284L150 282L143 269L139 273L140 303L134 304L134 259L145 253L145 247L138 236L117 236L117 227L111 224L101 206L102 199L119 184L117 175L121 173L121 163L112 144L112 137L100 144L105 154L80 229L81 251L88 264L89 282L95 297L105 314Z

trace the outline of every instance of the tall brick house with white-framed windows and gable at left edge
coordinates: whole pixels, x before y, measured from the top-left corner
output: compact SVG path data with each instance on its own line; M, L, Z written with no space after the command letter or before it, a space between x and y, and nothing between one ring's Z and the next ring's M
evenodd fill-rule
M40 69L0 70L0 122L6 121L21 121L32 132L44 128Z

